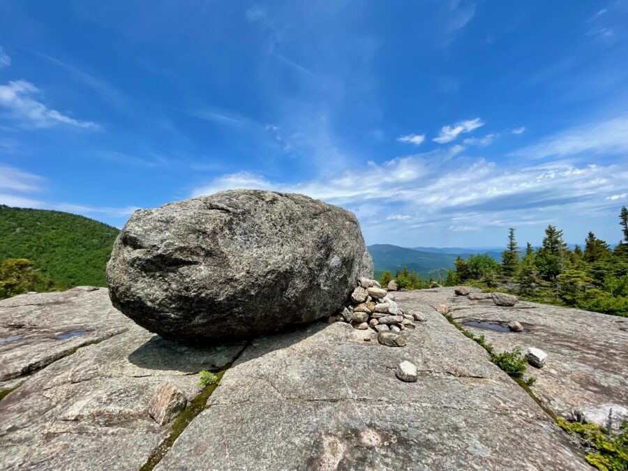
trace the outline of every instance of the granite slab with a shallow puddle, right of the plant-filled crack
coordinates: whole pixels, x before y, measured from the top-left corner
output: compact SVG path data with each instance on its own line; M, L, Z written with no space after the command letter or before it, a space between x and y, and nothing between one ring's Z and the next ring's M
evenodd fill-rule
M456 322L484 335L497 352L516 346L524 353L528 347L544 350L546 366L529 366L528 371L537 377L532 391L555 414L571 418L571 410L590 405L628 408L627 317L527 301L495 306L491 299L456 296L453 287L399 292L395 297L402 304L447 304ZM523 332L509 331L507 324L513 320L523 324Z

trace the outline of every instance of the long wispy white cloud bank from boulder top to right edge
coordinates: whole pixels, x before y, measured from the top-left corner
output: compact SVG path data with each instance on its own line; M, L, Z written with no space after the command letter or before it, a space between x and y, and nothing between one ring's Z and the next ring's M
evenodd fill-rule
M380 165L367 163L361 169L297 184L272 181L250 172L226 174L195 188L193 195L230 188L304 193L349 209L369 204L380 207L368 214L361 211L366 214L362 218L366 225L385 219L391 223L412 220L417 227L438 224L447 228L476 227L478 217L483 218L483 225L507 225L512 214L522 220L544 214L546 220L567 209L595 216L601 208L613 204L613 196L628 193L628 162L505 167L484 159L451 157L450 151L443 149L394 158ZM356 181L370 183L356 185ZM385 202L382 195L386 195Z

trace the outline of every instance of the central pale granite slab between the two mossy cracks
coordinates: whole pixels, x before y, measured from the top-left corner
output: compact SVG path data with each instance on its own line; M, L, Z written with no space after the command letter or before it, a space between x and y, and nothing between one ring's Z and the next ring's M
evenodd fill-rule
M479 345L424 311L405 347L341 322L253 341L156 469L590 469ZM396 378L403 360L417 382Z

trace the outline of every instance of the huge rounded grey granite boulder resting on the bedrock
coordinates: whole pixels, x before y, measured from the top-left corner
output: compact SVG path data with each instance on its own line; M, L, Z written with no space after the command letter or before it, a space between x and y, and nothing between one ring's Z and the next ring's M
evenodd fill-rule
M111 300L164 338L251 338L338 311L373 278L357 218L293 193L229 190L135 211L107 265Z

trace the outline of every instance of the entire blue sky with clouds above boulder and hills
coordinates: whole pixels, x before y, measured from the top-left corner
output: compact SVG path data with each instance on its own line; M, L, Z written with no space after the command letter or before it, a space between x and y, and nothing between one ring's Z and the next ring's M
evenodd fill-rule
M620 239L628 1L0 0L0 203L267 188L368 244Z

